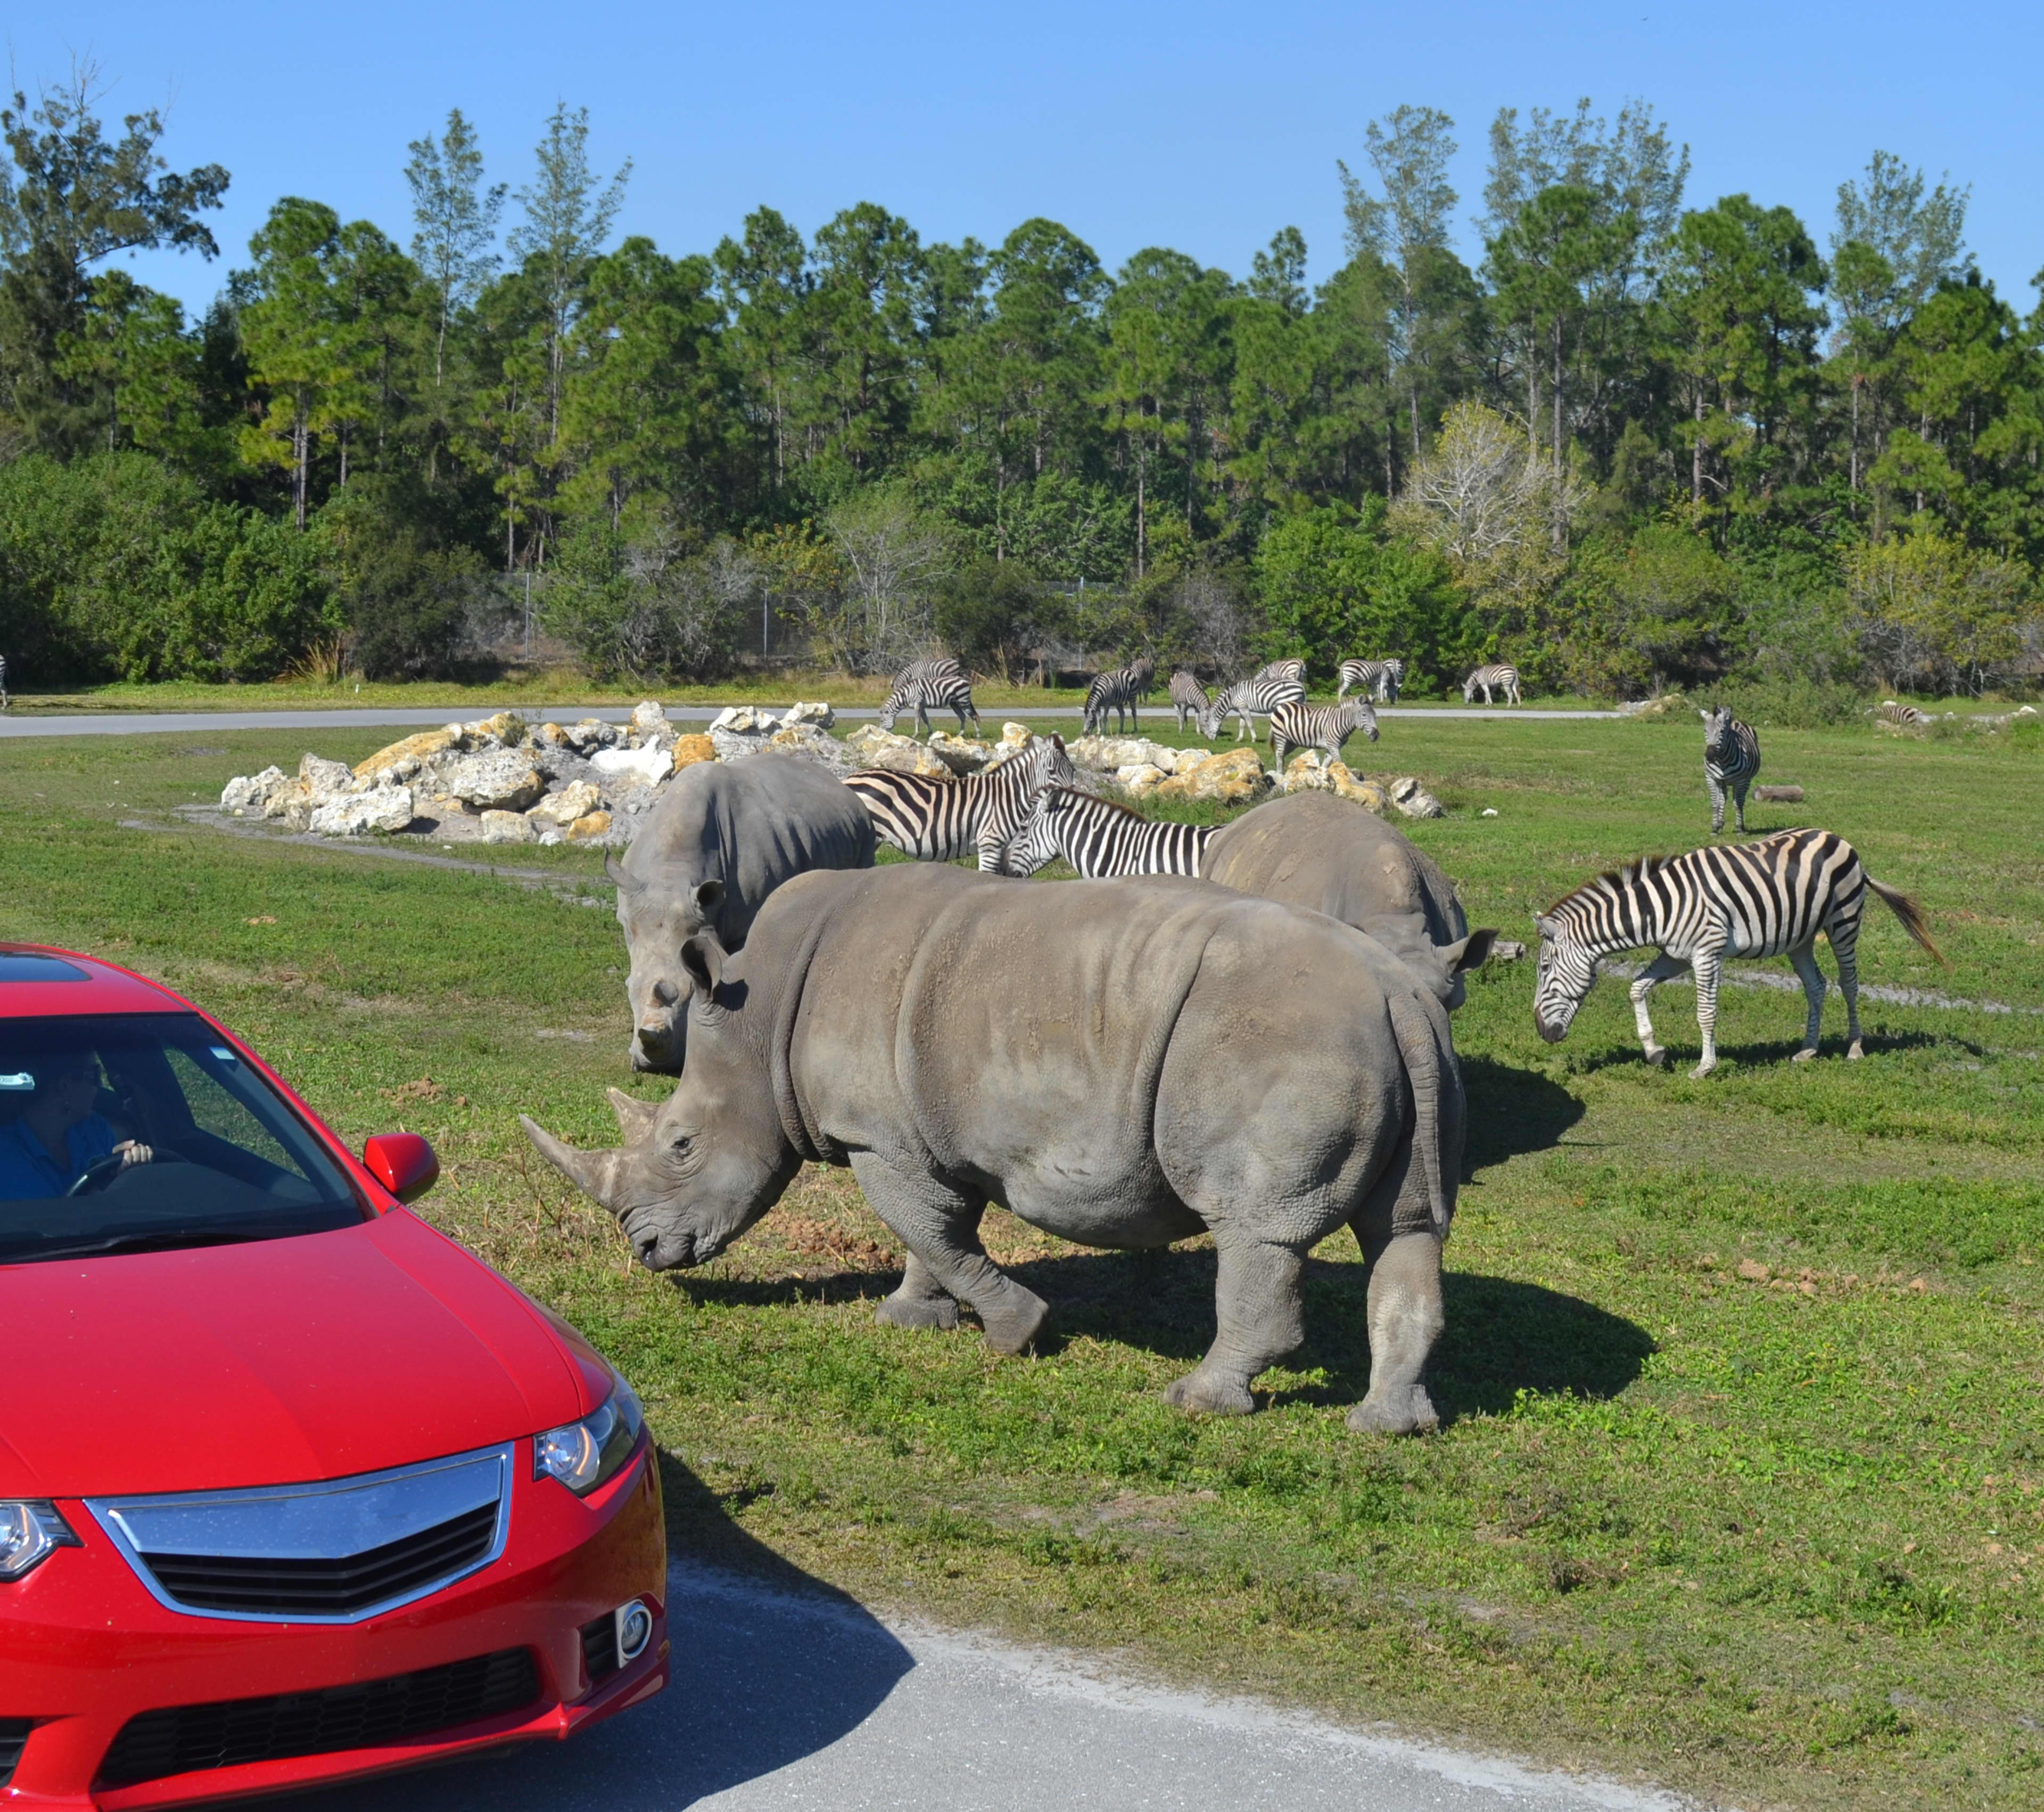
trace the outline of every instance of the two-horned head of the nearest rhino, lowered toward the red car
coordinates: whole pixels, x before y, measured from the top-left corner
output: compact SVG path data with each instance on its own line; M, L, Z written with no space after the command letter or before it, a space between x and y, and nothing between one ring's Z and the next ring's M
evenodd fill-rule
M623 1145L580 1151L519 1115L540 1156L617 1217L648 1270L715 1258L801 1168L766 1057L740 1021L746 984L726 978L717 935L685 939L679 965L689 980L689 1066L666 1102L609 1092Z

